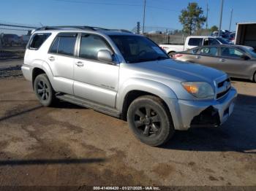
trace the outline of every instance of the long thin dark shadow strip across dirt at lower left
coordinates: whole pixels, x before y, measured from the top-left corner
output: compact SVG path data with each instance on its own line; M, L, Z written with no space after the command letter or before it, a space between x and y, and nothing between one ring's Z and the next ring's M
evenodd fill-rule
M35 160L0 160L3 165L59 165L59 164L83 164L83 163L102 163L104 158L80 158L80 159L35 159Z

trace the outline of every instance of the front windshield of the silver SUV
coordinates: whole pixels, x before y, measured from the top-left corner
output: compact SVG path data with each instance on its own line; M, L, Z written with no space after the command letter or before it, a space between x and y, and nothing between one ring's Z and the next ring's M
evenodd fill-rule
M169 59L157 44L144 36L110 36L127 63L140 63Z

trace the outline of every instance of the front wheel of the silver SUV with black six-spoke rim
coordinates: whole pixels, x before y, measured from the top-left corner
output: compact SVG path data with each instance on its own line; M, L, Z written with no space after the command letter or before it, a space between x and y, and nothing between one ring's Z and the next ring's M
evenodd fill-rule
M128 108L127 121L135 136L150 146L165 144L175 131L165 104L152 95L141 96L132 101Z

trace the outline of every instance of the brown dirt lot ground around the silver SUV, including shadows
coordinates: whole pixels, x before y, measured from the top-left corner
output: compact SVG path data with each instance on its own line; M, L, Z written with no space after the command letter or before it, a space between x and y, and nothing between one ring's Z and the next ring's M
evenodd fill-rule
M0 79L0 185L254 185L256 84L221 128L176 132L165 147L127 122L62 103L40 106L22 78Z

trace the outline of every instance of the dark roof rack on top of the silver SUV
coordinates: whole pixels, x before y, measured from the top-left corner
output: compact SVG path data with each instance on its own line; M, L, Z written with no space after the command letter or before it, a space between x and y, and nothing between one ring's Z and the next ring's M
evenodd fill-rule
M131 31L124 30L124 29L108 29L108 28L100 28L100 27L94 27L94 26L42 26L40 28L37 28L35 31L58 30L61 28L77 28L77 29L90 30L90 31L97 31L97 30L120 31L125 33L132 33Z

